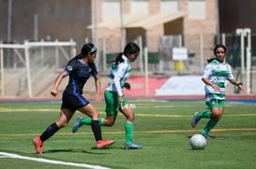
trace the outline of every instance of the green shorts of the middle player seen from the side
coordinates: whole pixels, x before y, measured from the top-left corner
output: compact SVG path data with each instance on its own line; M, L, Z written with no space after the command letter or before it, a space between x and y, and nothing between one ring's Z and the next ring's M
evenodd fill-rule
M111 92L111 91L105 90L104 96L105 96L105 102L106 102L105 112L110 115L117 115L119 108L121 107L117 92ZM124 96L123 99L124 99L123 106L128 105L127 98Z

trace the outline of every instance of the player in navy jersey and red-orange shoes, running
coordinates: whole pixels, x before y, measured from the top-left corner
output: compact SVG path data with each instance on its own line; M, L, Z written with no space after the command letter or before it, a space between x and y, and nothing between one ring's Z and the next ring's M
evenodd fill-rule
M59 120L53 122L43 134L33 139L34 146L39 154L42 153L43 142L53 136L60 128L66 127L76 110L91 118L91 128L96 139L96 148L104 148L114 143L113 140L102 140L98 110L82 95L84 84L89 77L93 76L97 88L97 97L100 97L100 81L98 70L94 63L96 55L96 46L91 43L83 45L81 53L71 59L67 67L56 78L51 91L53 96L58 94L58 87L62 79L67 76L69 76L68 86L63 92Z

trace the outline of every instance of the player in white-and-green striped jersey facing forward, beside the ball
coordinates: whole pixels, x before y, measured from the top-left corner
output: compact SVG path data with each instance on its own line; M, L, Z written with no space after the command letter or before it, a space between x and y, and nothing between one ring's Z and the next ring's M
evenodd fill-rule
M216 58L208 60L202 77L205 83L205 108L210 111L196 112L191 120L191 126L194 128L202 118L210 119L201 132L205 138L211 137L208 133L215 127L224 112L225 81L229 80L240 91L245 91L243 84L237 83L233 78L231 65L225 62L226 47L217 45L214 54Z

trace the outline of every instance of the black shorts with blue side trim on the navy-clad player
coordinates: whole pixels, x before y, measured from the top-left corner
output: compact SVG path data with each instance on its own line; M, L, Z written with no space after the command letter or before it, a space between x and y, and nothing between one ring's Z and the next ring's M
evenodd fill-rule
M76 93L66 93L62 95L61 108L68 108L75 112L77 109L90 104L82 95Z

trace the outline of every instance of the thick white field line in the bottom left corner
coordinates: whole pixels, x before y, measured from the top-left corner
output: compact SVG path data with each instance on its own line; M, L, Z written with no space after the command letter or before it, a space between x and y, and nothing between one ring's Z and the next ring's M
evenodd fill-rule
M90 165L90 164L86 164L86 163L75 163L75 162L53 161L53 160L42 159L42 158L26 157L26 156L21 156L21 155L17 155L17 154L12 154L12 153L7 153L7 152L1 152L0 151L0 157L1 156L6 157L6 158L12 158L12 159L23 159L23 160L28 160L28 161L46 162L46 163L77 166L77 167L91 168L91 169L110 169L110 168L99 166L99 165Z

